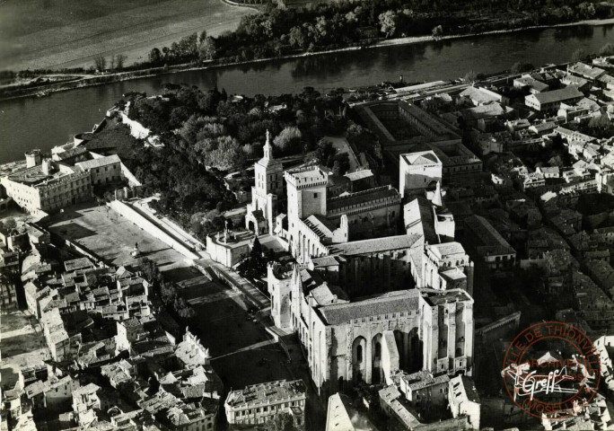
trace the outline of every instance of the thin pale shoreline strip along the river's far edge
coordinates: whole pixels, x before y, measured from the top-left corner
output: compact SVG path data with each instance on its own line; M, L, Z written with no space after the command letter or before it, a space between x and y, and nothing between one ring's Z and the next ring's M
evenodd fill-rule
M511 33L511 32L531 31L531 30L546 30L549 28L573 27L573 26L579 26L579 25L601 26L601 25L610 25L610 24L614 24L614 19L591 20L591 21L583 21L583 22L568 22L564 24L557 24L554 26L531 26L531 27L524 27L522 29L485 31L481 33L472 33L472 34L448 35L448 36L443 36L440 38L434 38L433 36L399 38L399 39L394 39L394 40L380 40L379 42L373 43L372 45L368 45L368 46L334 48L334 49L321 50L317 52L301 52L301 53L287 55L284 57L270 57L270 58L262 58L258 60L242 61L242 62L224 62L224 59L222 59L222 60L209 61L204 64L197 65L197 66L193 64L181 64L181 65L168 66L168 67L152 67L152 68L140 69L140 70L129 71L129 72L121 72L118 74L95 75L95 76L88 75L88 77L80 79L78 81L50 84L50 85L45 85L45 86L37 86L36 88L14 89L10 93L6 92L6 90L4 89L5 94L0 96L0 101L9 101L9 100L20 99L20 98L25 98L25 97L32 97L32 96L36 96L41 91L43 91L45 94L49 94L51 92L65 92L65 91L73 90L73 89L92 87L92 86L103 85L103 84L113 84L113 83L136 80L136 79L147 78L147 77L152 77L152 76L170 75L170 74L177 74L180 72L216 69L216 68L223 68L226 66L249 66L252 64L258 64L262 62L270 62L273 60L287 60L287 59L301 58L301 57L322 56L326 54L332 54L332 53L343 52L343 51L353 51L353 50L369 49L369 48L384 48L384 47L400 46L400 45L412 45L412 44L426 43L426 42L432 42L432 41L442 41L442 40L459 40L459 39L466 39L466 38L471 38L471 37L487 36L489 34L497 34L497 33ZM464 72L464 71L461 71L461 72ZM476 72L480 72L480 71L477 70Z

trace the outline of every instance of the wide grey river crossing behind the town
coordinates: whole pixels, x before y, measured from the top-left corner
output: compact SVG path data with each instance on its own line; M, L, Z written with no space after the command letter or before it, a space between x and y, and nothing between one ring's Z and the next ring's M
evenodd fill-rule
M593 53L607 42L614 42L611 24L515 31L181 72L4 101L0 102L0 163L22 159L32 148L48 151L65 144L71 136L91 130L123 93L155 94L166 83L203 90L217 85L229 93L253 95L299 92L307 85L326 91L397 80L399 75L407 82L445 80L469 70L499 72L517 61L535 66L564 63L577 48Z

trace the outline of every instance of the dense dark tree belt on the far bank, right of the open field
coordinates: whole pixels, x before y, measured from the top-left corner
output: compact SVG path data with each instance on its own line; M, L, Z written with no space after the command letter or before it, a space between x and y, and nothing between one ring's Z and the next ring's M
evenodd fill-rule
M203 31L170 47L153 48L149 65L218 58L250 61L297 51L370 43L373 31L365 31L369 28L379 38L428 34L439 38L444 34L609 18L612 13L612 8L605 4L577 0L364 0L360 3L341 0L307 4L297 9L287 9L284 2L277 2L267 4L260 13L242 17L236 31L225 31L216 38Z

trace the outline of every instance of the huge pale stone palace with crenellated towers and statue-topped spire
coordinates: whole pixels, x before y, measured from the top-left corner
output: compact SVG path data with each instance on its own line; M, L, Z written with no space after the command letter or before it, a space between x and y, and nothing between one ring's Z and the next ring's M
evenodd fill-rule
M339 175L316 163L284 169L268 134L255 164L246 227L295 259L268 267L271 314L298 334L320 394L423 370L471 373L473 263L454 241L441 173L414 181L411 164L400 163L399 178L416 184L403 197L390 185L339 191Z

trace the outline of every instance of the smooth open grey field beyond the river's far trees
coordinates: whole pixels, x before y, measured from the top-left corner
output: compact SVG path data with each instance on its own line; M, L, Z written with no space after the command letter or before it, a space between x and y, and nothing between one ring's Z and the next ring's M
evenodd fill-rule
M249 13L221 0L2 0L0 67L89 67L115 54L129 65L195 31L232 31Z

